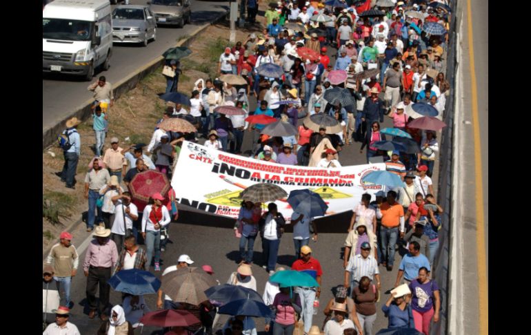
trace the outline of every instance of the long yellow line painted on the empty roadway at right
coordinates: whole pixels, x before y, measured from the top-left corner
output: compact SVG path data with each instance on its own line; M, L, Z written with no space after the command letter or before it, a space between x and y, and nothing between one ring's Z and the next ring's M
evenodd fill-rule
M472 79L472 124L474 127L474 169L476 174L476 254L478 274L479 334L488 334L488 289L487 260L485 257L485 218L483 208L483 172L481 170L481 137L477 106L477 81L474 64L474 43L472 42L472 4L467 0L468 15L468 55L470 57L470 77Z

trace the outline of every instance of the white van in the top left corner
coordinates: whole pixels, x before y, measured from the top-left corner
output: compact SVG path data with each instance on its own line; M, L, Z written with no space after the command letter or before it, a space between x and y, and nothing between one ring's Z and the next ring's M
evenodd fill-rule
M43 10L43 73L92 80L94 68L108 70L112 55L109 0L55 0Z

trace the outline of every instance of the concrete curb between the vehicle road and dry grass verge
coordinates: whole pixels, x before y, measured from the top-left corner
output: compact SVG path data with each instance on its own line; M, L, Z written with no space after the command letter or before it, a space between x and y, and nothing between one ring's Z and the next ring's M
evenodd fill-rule
M200 26L196 30L194 30L190 37L187 37L186 39L183 39L175 46L189 46L195 39L197 39L198 35L203 31L206 30L209 26L212 26L215 23L218 23L219 21L222 21L225 19L227 15L227 12L217 12L217 17L210 23L206 23L203 26ZM119 82L117 82L114 85L114 99L118 99L121 95L124 93L127 93L129 90L132 90L134 87L137 86L137 84L143 79L144 77L150 75L153 73L159 66L163 64L163 57L158 56L151 61L148 61L148 63L145 66L141 66L137 70L134 70L129 75L126 75L124 79L121 79ZM94 100L93 99L87 99L85 102L83 102L80 106L75 108L75 111L72 112L67 117L62 117L60 119L56 120L56 124L54 126L51 126L50 128L46 128L43 131L43 151L48 148L51 144L54 144L57 139L57 135L63 131L63 128L65 128L66 120L77 117L78 119L81 119L81 121L86 121L88 117L90 116L90 105L92 104Z

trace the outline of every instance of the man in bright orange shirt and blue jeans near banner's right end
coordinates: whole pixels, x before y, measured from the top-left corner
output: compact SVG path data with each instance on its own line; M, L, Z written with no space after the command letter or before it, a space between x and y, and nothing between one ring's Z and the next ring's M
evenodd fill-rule
M400 230L400 238L404 235L404 209L397 202L397 192L387 193L387 202L377 205L376 218L381 219L380 242L382 248L381 263L392 271L394 264L394 245ZM387 261L386 261L387 260Z

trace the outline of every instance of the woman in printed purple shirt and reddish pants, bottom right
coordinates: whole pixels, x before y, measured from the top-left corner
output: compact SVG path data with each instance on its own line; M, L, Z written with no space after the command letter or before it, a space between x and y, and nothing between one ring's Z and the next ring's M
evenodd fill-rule
M411 307L415 329L423 334L430 334L430 322L439 321L441 298L439 286L434 280L428 278L428 269L419 269L419 278L410 283ZM435 307L435 308L434 308Z

